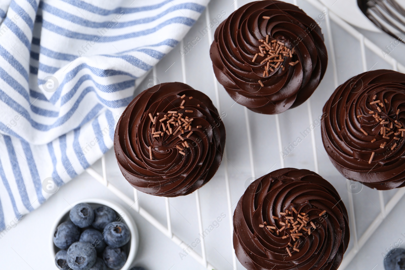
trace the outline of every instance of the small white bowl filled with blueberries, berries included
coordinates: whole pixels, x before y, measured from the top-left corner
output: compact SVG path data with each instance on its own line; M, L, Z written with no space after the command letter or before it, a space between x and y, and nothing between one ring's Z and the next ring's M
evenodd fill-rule
M51 253L60 270L129 270L138 250L138 229L118 204L87 199L56 219Z

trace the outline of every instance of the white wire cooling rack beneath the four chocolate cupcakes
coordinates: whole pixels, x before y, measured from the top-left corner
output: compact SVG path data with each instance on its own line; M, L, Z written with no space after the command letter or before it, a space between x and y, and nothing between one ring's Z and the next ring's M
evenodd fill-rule
M376 191L368 187L363 188L359 183L345 182L343 176L335 170L326 157L317 119L322 115L322 107L333 90L349 77L379 68L405 73L405 67L390 55L384 57L377 45L317 0L294 0L292 4L304 9L314 19L318 18L321 24L328 49L327 72L306 104L280 115L253 113L236 104L226 94L215 78L209 59L209 46L212 43L215 28L234 9L237 9L238 5L241 6L247 2L249 1L243 3L241 0L211 1L181 44L166 55L147 77L151 78L153 83L164 81L188 83L195 89L204 91L216 104L218 111L226 113L224 117L227 132L226 149L220 169L213 179L202 189L185 197L156 198L140 193L136 189L133 189L132 197L132 191L130 191L132 187L128 189L130 186L119 175L113 151L102 157L101 172L95 168L88 168L87 172L177 244L183 250L181 253L190 255L207 269L240 270L244 268L237 261L232 246L232 215L234 206L247 185L251 180L256 179L256 176L262 176L271 170L285 166L313 170L336 187L348 210L350 245L339 269L349 269L352 259L403 197L405 189ZM320 19L318 15L322 14L322 11L327 15L321 16L322 19ZM220 16L224 13L226 15ZM210 23L213 25L212 30L210 30ZM207 31L207 26L210 31ZM199 39L196 38L197 36ZM138 89L137 92L146 89L147 86L138 88L142 89ZM306 130L307 127L311 127L310 136L302 138L303 142L292 147L292 151L283 157L281 152L285 150L284 147L295 145L294 140L297 136L301 136L300 131ZM115 170L115 174L111 176L109 170ZM143 201L147 203L143 204ZM178 210L185 205L187 207ZM161 209L158 209L159 207ZM212 233L215 239L212 237L210 239L207 237L208 231L205 228L215 220L215 216L220 215L221 210L224 210L222 214L227 216L224 223L228 224L221 225L221 230L218 229L217 233ZM184 219L179 217L179 214ZM185 220L188 221L188 219L184 215L187 215L192 222L187 224ZM194 248L192 245L193 248L190 248L194 238L186 235L184 227L191 227L191 230L195 231L194 235L198 235L200 239L198 247Z

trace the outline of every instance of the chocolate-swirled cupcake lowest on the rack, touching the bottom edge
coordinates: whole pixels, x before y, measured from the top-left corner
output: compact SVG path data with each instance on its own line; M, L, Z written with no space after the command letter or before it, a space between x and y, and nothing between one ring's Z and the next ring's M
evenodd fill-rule
M233 216L233 246L248 270L330 270L349 243L336 189L309 170L284 168L246 189Z

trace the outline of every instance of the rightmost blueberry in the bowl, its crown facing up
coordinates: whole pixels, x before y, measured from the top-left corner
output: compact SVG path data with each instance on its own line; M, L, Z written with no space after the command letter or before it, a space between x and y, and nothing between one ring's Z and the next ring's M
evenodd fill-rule
M111 222L104 227L104 241L111 247L122 247L131 238L128 226L122 222Z

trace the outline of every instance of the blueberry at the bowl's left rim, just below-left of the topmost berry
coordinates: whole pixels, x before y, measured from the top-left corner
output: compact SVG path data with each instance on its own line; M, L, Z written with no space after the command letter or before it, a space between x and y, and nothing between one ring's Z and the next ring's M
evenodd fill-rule
M59 224L53 234L53 243L60 249L68 249L74 242L79 241L79 228L68 220Z

